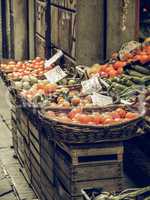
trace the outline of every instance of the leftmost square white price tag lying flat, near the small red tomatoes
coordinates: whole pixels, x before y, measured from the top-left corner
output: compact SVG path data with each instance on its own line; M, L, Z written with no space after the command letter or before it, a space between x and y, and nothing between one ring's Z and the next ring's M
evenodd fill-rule
M67 74L60 68L59 65L45 73L47 80L50 83L57 83L61 79L65 78Z

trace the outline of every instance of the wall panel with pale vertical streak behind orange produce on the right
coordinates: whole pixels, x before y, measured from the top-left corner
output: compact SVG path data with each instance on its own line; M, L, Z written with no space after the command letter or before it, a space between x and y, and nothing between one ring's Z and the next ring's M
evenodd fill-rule
M110 58L112 52L118 51L124 42L137 39L137 4L139 0L130 0L126 21L126 30L121 31L122 22L122 1L107 0L107 40L106 56Z

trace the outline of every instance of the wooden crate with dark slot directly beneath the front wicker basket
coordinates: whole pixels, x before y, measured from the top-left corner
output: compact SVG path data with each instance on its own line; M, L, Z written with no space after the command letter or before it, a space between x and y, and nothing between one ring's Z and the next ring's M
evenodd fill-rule
M57 143L54 176L72 196L80 196L81 189L90 185L120 191L123 187L123 145L68 147Z

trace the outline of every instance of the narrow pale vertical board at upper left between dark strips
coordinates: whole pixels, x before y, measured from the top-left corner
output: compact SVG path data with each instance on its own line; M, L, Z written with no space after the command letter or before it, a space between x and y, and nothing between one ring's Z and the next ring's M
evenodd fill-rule
M13 0L15 59L28 58L27 0Z

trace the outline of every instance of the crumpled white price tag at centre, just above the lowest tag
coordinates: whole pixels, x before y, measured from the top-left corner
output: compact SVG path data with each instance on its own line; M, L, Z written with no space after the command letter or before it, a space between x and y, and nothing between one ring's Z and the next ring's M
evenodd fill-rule
M91 94L93 92L98 92L102 89L102 86L98 80L97 76L90 78L89 80L82 81L82 91L86 94Z

